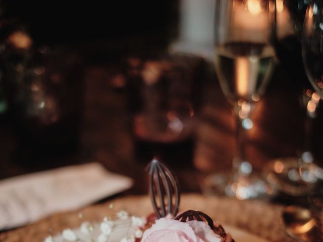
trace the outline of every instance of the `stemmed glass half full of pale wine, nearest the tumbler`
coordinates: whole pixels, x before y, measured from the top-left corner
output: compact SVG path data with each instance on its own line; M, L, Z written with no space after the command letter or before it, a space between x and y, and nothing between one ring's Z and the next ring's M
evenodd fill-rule
M244 152L250 118L270 76L274 62L271 44L274 30L274 3L270 0L218 0L215 15L216 73L236 117L236 154L233 172L206 178L206 186L238 199L260 197L267 187ZM212 185L210 185L212 184ZM206 191L207 192L207 191Z

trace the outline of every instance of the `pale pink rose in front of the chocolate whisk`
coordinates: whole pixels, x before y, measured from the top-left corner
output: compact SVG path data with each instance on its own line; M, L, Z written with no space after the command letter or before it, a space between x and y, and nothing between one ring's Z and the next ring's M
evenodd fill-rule
M160 218L147 229L141 242L221 242L221 237L201 221L180 222Z

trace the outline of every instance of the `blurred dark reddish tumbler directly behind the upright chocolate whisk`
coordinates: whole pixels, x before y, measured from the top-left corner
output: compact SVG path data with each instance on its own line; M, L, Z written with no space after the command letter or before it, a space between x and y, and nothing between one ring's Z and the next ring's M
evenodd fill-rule
M185 54L128 58L131 128L139 143L154 146L151 156L183 150L192 137L203 65L202 58Z

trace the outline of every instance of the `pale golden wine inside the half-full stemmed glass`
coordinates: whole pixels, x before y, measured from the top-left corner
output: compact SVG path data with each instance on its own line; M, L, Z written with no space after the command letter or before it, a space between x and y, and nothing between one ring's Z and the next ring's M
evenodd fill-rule
M228 42L216 47L216 71L226 97L235 102L252 101L261 93L274 57L266 43Z

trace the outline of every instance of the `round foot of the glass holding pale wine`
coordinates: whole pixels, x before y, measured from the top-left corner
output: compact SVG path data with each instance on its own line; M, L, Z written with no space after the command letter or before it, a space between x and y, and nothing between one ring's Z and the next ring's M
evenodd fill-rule
M273 190L259 174L236 177L236 174L217 173L207 176L202 184L205 195L225 195L240 200L263 198Z

